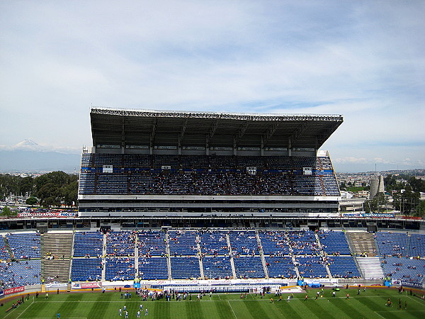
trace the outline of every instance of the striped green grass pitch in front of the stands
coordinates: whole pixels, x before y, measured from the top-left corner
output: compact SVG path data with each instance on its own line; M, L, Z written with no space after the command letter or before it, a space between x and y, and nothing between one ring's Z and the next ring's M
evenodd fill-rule
M239 294L213 294L201 301L193 300L166 302L142 302L148 308L140 318L425 318L425 301L409 296L409 293L399 294L393 289L368 289L357 296L356 289L341 289L336 293L336 298L331 297L331 291L325 290L324 297L314 300L317 289L308 291L309 300L304 301L305 293L295 293L295 298L290 302L285 299L288 294L283 294L283 301L277 301L274 294L265 298L249 295L240 299ZM350 299L346 300L347 291ZM275 299L271 303L270 298ZM387 298L391 298L392 307L385 306ZM398 301L402 300L402 310L399 310ZM407 301L407 310L404 310L404 301ZM118 309L127 305L128 318L137 318L140 298L133 294L131 300L120 299L118 291L106 293L50 293L45 300L44 294L39 298L30 296L18 308L6 313L11 306L11 301L0 308L0 318L60 318L91 319L91 318L124 318L118 315Z

